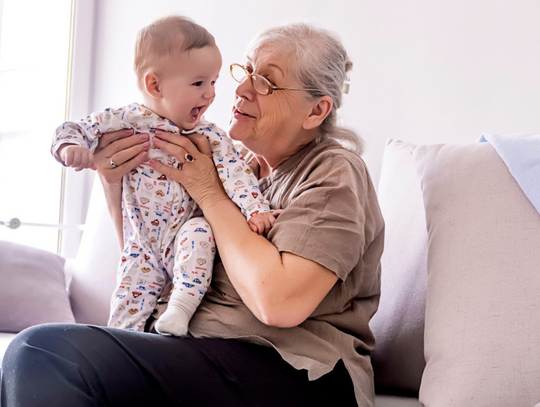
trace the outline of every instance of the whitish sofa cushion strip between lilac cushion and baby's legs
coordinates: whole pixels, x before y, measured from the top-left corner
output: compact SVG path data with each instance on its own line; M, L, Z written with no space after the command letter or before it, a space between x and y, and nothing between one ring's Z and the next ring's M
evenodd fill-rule
M103 187L96 177L69 285L71 307L77 322L107 325L120 255Z

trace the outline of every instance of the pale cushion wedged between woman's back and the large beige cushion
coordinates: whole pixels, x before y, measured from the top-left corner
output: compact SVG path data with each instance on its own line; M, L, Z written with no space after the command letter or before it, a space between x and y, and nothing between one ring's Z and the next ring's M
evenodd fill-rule
M417 395L424 370L427 231L414 145L387 142L378 196L384 217L381 301L371 320L378 393Z

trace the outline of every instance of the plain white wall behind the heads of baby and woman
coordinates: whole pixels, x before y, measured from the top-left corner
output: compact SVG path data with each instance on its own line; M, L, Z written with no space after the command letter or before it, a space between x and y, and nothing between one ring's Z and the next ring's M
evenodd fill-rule
M367 141L375 181L387 138L468 143L482 132L540 131L536 0L97 0L92 110L140 100L133 38L170 12L204 25L221 48L218 96L207 113L221 127L235 85L228 65L242 62L256 32L287 21L338 32L354 62L342 122Z

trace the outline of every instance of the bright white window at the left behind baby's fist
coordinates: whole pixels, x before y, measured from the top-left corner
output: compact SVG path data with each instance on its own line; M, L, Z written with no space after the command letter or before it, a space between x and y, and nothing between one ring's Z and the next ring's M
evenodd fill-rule
M0 0L0 239L56 252L62 166L50 154L68 117L72 0Z

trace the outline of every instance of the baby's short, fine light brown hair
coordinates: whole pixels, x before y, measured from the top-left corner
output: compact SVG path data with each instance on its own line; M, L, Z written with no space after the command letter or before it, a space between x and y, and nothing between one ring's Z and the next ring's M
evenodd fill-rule
M216 45L212 34L188 17L170 15L154 21L142 28L135 38L137 86L144 90L148 68L159 65L164 58L212 45Z

